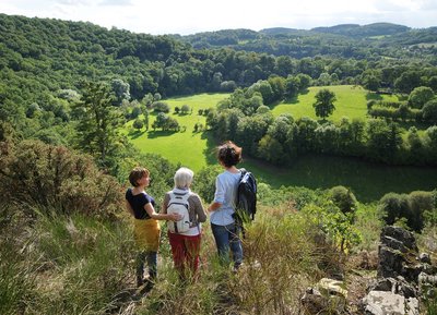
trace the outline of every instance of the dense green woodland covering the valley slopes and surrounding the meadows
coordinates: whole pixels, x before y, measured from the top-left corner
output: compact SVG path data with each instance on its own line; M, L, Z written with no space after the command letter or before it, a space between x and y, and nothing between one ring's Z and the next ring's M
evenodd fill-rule
M250 154L260 153L271 162L282 163L305 152L359 156L389 163L427 165L437 160L436 130L432 128L437 117L435 27L410 29L382 23L311 31L220 31L181 37L133 34L81 22L4 14L0 19L0 118L24 138L88 147L87 152L93 154L95 149L84 145L76 132L82 128L85 130L79 134L86 134L87 126L80 123L83 108L79 100L93 88L92 82L106 85L107 97L114 97L110 102L116 108L108 110L121 121L114 119L113 125L122 123L122 113L129 119L132 107L142 104L142 111L146 110L151 99L236 90L227 105L221 105L222 109L237 108L231 114L234 118L218 118L212 112L210 128L217 135L236 137ZM210 45L198 48L202 46L199 41ZM272 54L263 45L287 48ZM282 122L273 123L268 112L259 114L262 123L251 123L258 119L253 114L261 106L291 99L310 85L331 84L357 84L375 93L398 93L404 95L405 104L374 101L369 104L369 116L386 120L352 122L345 118L336 126L326 121L295 122L293 118L280 118ZM408 101L413 90L418 96L411 98L418 100ZM226 123L217 126L218 120ZM402 131L397 121L424 123L420 129L426 130L426 136L414 129ZM233 123L235 126L229 125ZM248 124L258 129L252 133L255 138L241 136L247 134ZM277 124L285 124L283 135L273 130ZM377 130L378 134L368 134ZM401 137L406 132L410 142ZM323 147L324 143L333 147ZM420 150L415 150L417 147ZM102 148L97 150L106 158ZM418 157L413 157L416 152Z

